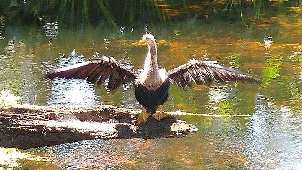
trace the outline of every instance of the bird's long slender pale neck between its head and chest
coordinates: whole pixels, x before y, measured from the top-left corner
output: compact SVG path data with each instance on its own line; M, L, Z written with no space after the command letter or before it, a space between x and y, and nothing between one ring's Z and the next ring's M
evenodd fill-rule
M148 51L144 64L144 71L158 73L157 48L155 42L148 42Z

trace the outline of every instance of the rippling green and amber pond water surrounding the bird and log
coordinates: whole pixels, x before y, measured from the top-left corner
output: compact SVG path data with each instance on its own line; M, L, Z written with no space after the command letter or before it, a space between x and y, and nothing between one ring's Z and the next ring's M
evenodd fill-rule
M139 109L131 84L108 93L105 86L85 80L43 76L95 52L114 56L125 67L142 68L146 45L138 41L146 31L157 38L160 67L172 69L193 57L217 60L262 83L212 83L187 91L172 85L163 110L228 115L177 116L198 128L184 138L89 140L9 150L4 153L36 159L0 161L0 169L302 169L299 1L96 1L99 7L89 12L92 2L81 9L74 1L47 1L49 8L58 6L59 17L40 7L23 16L34 2L8 6L0 16L0 89L11 89L23 103L32 104L36 96L37 105ZM70 10L62 14L62 8L78 15L84 11L84 17Z

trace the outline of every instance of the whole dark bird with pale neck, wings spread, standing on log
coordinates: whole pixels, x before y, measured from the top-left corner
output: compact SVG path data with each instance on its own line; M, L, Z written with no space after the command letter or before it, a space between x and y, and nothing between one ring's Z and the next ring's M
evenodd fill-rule
M116 90L123 83L132 81L135 87L135 97L142 105L142 113L138 116L137 124L146 122L151 114L157 120L167 116L162 112L161 106L168 99L168 90L171 83L176 83L178 87L185 90L186 87L192 86L192 82L203 84L211 82L213 79L260 82L259 79L243 72L223 67L216 61L193 59L186 64L166 71L164 68L158 67L157 48L153 35L143 35L140 42L147 43L148 47L143 70L127 69L113 57L103 56L102 58L93 58L90 61L53 70L46 77L87 78L88 82L97 82L100 85L109 76L108 87L111 91ZM159 112L156 112L158 106Z

